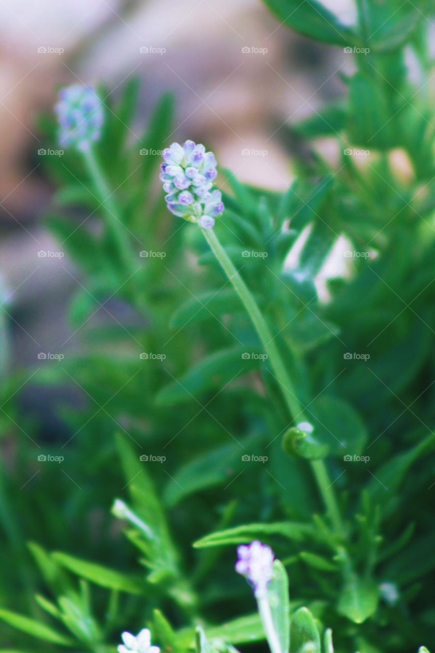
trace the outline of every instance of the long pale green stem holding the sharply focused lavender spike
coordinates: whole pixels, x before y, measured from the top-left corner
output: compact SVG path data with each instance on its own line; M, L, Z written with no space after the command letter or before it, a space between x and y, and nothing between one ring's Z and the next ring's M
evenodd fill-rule
M301 420L307 419L304 415L304 407L298 400L293 381L289 377L280 352L274 343L274 338L270 332L270 328L259 310L257 302L255 302L248 286L237 272L234 264L225 252L225 249L221 246L214 230L202 229L201 231L216 256L217 261L219 261L223 271L229 278L229 281L233 284L234 290L240 297L242 304L244 304L244 307L250 315L253 326L255 327L255 330L257 330L257 334L259 335L263 347L265 347L265 353L268 355L268 360L270 361L274 375L280 384L283 398L287 404L291 418L300 418ZM310 461L310 464L317 485L319 486L323 502L325 503L325 507L329 513L330 520L334 525L334 529L337 532L341 532L342 520L340 517L340 509L338 508L338 503L336 501L334 490L332 489L332 483L329 480L329 474L325 463L323 460L312 460Z

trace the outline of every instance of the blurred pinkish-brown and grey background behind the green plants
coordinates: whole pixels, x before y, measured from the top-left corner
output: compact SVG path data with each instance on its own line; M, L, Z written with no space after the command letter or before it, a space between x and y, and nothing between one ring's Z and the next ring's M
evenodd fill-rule
M353 20L350 0L329 5ZM257 0L3 0L0 25L0 292L12 369L75 342L65 310L76 273L67 259L38 257L57 247L42 224L54 189L37 118L52 112L59 86L103 82L116 97L138 76L138 125L169 89L174 140L203 141L240 180L284 189L292 180L287 125L340 97L340 75L352 65L340 48L282 27ZM318 146L337 157L336 144ZM31 383L22 393L23 409L48 432L59 428L57 394Z

